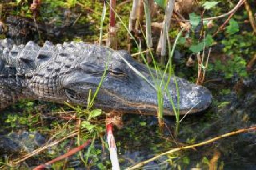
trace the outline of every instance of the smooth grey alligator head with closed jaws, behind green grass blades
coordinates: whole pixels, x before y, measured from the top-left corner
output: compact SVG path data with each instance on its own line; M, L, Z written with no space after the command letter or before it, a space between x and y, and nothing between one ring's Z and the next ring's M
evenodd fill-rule
M94 48L99 47L94 46ZM126 51L112 51L102 47L99 49L96 50L98 54L87 53L92 57L81 60L63 78L63 87L70 102L79 103L82 100L85 102L89 89L93 93L96 91L107 69L94 102L95 107L104 110L115 109L123 113L156 114L157 83L161 82L163 72L148 70L146 65L135 61ZM164 85L162 87L165 115L174 115L170 100L176 110L179 108L180 114L202 111L211 104L212 96L207 88L183 78L164 76L163 79L165 83L168 82L166 90Z

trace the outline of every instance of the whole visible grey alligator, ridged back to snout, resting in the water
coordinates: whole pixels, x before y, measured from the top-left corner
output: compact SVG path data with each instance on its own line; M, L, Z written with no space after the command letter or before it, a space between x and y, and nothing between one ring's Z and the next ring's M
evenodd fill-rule
M154 85L147 67L137 63L125 51L82 42L54 46L47 41L39 47L30 41L25 46L16 46L10 39L4 39L0 41L0 109L22 98L86 106L89 89L92 94L95 92L108 63L94 107L104 111L156 115L156 90L124 59ZM155 75L155 70L151 69L151 72ZM176 77L176 80L180 114L186 114L191 108L189 113L209 107L212 96L207 88L182 78ZM174 78L170 79L168 90L177 107ZM164 114L174 115L167 95L163 98Z

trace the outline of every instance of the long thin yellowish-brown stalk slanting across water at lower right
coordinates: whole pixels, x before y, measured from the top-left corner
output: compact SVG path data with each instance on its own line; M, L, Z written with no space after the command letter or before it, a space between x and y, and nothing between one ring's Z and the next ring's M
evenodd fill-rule
M195 147L198 147L198 146L203 146L203 145L206 145L206 144L210 144L216 140L219 140L219 139L222 139L224 137L229 137L229 136L232 136L232 135L237 135L239 133L245 133L245 132L249 132L249 131L256 131L256 126L252 126L250 128L247 128L247 129L240 129L238 131L233 131L233 132L229 132L229 133L226 133L224 135L220 135L218 137L214 137L212 139L209 139L207 141L204 141L204 142L200 142L198 144L193 144L193 145L189 145L189 146L182 146L182 147L179 147L179 148L174 148L174 149L171 149L171 150L168 150L164 153L161 153L153 158L150 158L146 161L143 161L143 162L140 162L138 163L137 165L135 166L132 166L130 168L127 168L126 170L135 170L135 169L138 169L144 165L146 165L147 163L150 163L151 161L154 161L155 159L158 159L159 157L163 156L163 155L168 155L168 154L171 154L171 153L174 153L174 152L177 152L177 151L180 151L180 150L186 150L186 149L191 149L191 148L195 148Z

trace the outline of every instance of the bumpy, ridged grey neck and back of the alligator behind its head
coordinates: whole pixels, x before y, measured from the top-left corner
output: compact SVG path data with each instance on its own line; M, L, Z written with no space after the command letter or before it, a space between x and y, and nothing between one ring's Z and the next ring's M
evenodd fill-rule
M107 48L70 42L42 47L32 41L16 46L11 39L0 40L0 109L21 98L63 103L67 100L61 86L63 74L75 69L95 72L88 65L102 65ZM87 59L89 58L89 59Z

